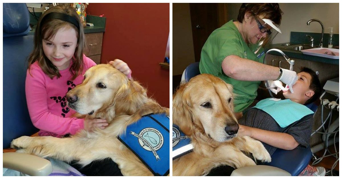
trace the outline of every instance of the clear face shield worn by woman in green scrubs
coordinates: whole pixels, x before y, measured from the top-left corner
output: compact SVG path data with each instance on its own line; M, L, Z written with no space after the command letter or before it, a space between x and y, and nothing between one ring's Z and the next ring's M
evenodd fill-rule
M251 31L249 34L250 45L249 48L257 54L261 48L271 44L275 36L281 31L279 25L275 24L272 20L261 19L253 12L251 12L252 18L255 22L252 22Z

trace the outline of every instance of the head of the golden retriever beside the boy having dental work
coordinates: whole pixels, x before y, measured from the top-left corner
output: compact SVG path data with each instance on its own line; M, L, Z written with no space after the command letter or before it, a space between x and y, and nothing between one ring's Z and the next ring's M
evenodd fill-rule
M174 95L173 121L186 135L198 130L219 142L235 137L232 86L209 74L192 78Z

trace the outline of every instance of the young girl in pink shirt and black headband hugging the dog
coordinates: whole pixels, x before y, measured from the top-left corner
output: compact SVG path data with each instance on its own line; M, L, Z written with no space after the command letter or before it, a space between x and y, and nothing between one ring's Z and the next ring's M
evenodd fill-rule
M67 106L66 93L81 84L84 73L96 65L83 54L86 40L75 9L69 5L59 5L43 13L38 21L34 43L28 60L25 91L30 118L34 126L40 129L38 134L63 137L82 129L104 129L108 125L105 119L72 117L76 111ZM131 70L126 63L118 59L109 63L130 78ZM97 171L98 168L94 167L104 165L104 161L91 163L92 167L88 167L88 170ZM114 168L111 167L111 170L118 170L111 160L107 160L106 165L112 165ZM88 170L81 173L106 175L88 173ZM107 175L116 174L112 171Z

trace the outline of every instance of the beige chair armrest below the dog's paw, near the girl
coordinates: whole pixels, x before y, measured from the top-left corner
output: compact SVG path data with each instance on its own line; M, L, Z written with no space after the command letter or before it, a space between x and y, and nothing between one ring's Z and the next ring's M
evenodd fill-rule
M48 176L52 173L51 162L36 155L18 152L2 153L3 167L30 176Z

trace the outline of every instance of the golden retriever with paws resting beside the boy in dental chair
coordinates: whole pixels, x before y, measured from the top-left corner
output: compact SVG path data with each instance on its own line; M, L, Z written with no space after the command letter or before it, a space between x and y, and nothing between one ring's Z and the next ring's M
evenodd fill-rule
M193 152L173 160L173 176L201 176L220 165L235 168L255 165L255 159L271 162L258 140L237 137L233 87L222 79L201 74L182 84L173 95L172 122L191 139Z

